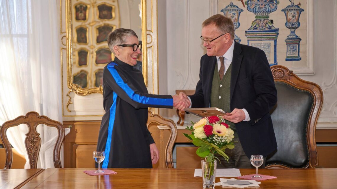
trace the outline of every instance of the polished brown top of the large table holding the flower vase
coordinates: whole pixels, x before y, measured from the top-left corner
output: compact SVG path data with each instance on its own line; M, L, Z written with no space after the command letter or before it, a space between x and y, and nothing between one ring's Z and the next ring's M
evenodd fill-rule
M48 168L22 188L183 188L202 187L202 178L193 177L194 169L113 169L118 174L89 176L84 168ZM240 169L241 175L255 169ZM264 188L337 188L337 169L259 169L259 174L277 179L261 181ZM216 178L216 182L220 182ZM222 188L222 186L215 186Z

